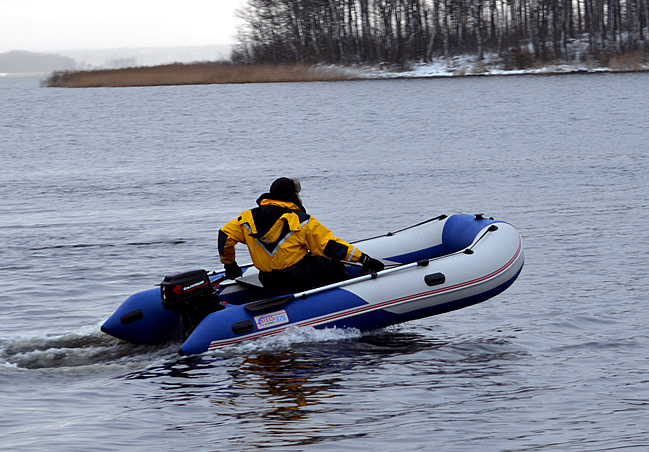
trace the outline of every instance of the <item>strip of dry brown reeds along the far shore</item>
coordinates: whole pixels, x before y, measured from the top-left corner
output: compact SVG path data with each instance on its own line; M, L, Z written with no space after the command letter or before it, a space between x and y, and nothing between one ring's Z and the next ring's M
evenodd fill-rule
M91 88L221 83L273 83L351 80L340 68L308 65L241 65L228 62L174 63L161 66L57 71L43 83L48 87Z

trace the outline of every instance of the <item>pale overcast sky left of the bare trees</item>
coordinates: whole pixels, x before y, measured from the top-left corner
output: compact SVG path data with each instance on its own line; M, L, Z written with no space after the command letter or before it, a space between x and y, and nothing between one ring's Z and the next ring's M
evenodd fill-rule
M0 0L0 53L231 44L245 0Z

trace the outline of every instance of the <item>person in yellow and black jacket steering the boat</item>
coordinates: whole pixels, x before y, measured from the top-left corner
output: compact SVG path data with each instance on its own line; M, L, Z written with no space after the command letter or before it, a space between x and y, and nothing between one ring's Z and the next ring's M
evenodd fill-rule
M245 243L259 280L270 290L299 292L349 278L342 264L358 262L371 271L384 265L341 240L306 213L297 179L282 177L270 192L257 199L258 207L246 210L219 230L218 247L225 275L242 275L234 246Z

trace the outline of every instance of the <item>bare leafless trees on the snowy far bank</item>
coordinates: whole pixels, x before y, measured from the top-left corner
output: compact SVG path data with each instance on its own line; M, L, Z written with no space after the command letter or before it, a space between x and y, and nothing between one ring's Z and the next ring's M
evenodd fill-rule
M649 0L248 0L238 16L238 63L406 64L489 52L526 67L649 53Z

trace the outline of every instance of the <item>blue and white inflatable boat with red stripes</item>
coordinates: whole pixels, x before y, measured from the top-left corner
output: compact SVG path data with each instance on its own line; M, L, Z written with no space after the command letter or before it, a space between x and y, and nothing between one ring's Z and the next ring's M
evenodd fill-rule
M279 334L287 328L374 330L485 301L507 289L523 268L521 235L482 214L442 215L355 243L386 265L299 293L264 289L258 272L243 276L195 270L167 276L136 293L101 330L135 344L184 340L181 355Z

